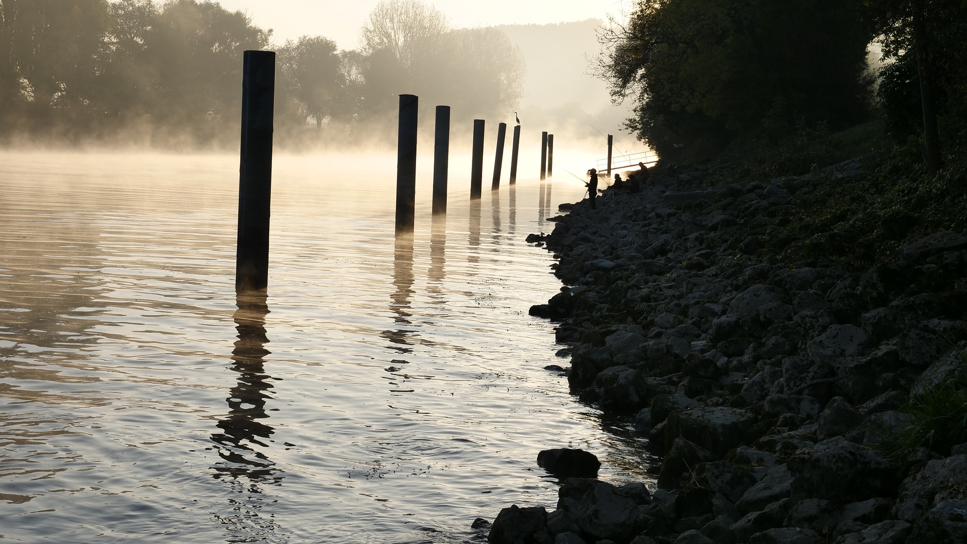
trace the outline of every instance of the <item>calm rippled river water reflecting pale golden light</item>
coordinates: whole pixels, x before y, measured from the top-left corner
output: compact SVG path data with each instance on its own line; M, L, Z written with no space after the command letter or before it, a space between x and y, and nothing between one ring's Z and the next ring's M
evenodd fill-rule
M422 175L395 241L391 171L277 157L268 296L237 301L236 157L0 159L0 538L464 542L554 504L542 448L644 477L527 315L570 176L471 206L452 169L434 223Z

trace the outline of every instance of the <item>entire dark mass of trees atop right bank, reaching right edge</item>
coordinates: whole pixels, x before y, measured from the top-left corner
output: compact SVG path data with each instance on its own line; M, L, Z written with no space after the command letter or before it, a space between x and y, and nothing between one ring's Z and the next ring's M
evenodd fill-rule
M920 138L929 155L931 127L956 139L967 120L964 0L654 0L612 29L599 74L613 97L635 101L630 129L672 160L877 112L896 140ZM878 72L871 43L883 51Z

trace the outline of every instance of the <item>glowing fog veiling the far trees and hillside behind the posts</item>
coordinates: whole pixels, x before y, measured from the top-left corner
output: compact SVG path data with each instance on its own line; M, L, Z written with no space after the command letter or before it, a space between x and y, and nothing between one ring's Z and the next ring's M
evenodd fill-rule
M616 154L644 149L622 131L628 105L611 104L589 75L597 19L453 28L429 4L382 2L358 29L360 46L340 49L326 36L278 40L217 2L76 0L62 13L43 4L0 0L7 149L234 153L247 49L277 51L279 153L391 153L399 94L420 97L422 153L438 104L452 107L454 154L484 119L492 162L497 124L513 127L515 116L522 168L542 130L555 134L562 167L566 155L604 157L608 133Z

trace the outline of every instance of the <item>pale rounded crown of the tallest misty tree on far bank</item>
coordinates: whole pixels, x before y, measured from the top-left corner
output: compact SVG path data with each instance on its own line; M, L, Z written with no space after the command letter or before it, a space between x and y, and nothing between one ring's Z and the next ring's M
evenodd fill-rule
M360 32L363 50L386 49L410 74L416 72L418 46L426 47L449 29L447 16L419 0L383 0Z

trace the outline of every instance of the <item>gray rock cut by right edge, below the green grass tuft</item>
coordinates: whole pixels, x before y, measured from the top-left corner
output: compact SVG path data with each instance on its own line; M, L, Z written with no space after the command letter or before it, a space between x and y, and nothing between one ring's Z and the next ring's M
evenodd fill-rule
M958 486L967 487L967 454L928 461L900 484L892 514L897 519L915 522Z

